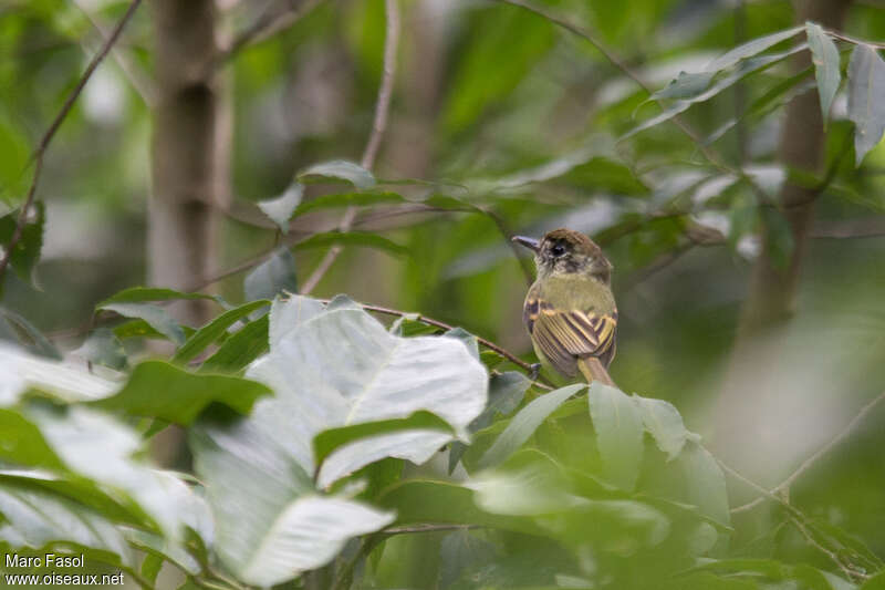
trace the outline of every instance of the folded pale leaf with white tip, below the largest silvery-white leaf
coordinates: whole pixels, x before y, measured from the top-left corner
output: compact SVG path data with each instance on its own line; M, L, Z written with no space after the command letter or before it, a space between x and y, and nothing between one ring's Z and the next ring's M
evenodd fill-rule
M331 560L351 537L393 515L316 496L290 451L250 421L191 431L195 467L217 524L216 551L238 578L272 586Z

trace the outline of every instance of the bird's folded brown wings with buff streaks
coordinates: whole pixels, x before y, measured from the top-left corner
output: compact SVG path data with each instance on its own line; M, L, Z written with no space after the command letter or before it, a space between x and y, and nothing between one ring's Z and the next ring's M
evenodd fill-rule
M523 315L541 352L565 375L575 374L575 359L596 356L607 366L614 356L617 311L560 310L530 297Z

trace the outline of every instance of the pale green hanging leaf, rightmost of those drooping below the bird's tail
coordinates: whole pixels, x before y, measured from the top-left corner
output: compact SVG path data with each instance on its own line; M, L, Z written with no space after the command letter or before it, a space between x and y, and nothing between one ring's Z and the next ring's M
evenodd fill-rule
M700 514L729 526L726 477L714 456L699 444L688 442L675 462L685 478L689 501Z

